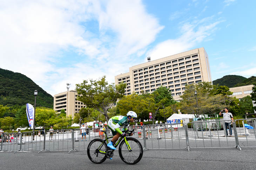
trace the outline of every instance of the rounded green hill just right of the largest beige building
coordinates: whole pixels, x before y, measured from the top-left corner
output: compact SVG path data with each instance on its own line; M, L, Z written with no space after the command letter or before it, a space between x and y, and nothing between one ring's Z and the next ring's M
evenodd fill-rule
M236 84L241 83L243 80L246 80L246 77L240 75L225 75L220 79L214 80L213 84L220 86L228 86L229 88L235 87Z

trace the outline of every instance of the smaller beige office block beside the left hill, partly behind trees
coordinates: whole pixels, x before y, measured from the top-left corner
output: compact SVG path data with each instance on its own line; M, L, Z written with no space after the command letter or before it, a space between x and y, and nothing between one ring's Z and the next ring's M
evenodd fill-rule
M53 109L60 112L62 109L66 111L67 116L79 113L81 108L86 105L77 100L78 93L75 90L65 91L54 95Z

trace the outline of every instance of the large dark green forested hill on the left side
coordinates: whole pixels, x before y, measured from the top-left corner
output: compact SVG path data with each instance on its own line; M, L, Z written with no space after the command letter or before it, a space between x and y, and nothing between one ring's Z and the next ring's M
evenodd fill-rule
M0 68L0 105L34 105L34 90L38 90L36 106L53 108L53 96L21 73Z

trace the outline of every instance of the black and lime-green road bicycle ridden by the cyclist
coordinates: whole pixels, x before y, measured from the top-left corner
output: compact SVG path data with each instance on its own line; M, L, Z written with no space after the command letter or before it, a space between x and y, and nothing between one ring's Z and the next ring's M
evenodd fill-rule
M106 134L106 139L94 139L89 143L87 147L87 155L89 160L96 164L104 162L107 158L112 159L115 151L107 147L108 139L113 138L114 136L107 137L107 129L101 132ZM126 130L122 132L128 133L127 136L131 136L134 133L134 130ZM123 162L133 165L141 160L143 155L143 148L137 139L121 136L114 147L117 148L119 143L119 156Z

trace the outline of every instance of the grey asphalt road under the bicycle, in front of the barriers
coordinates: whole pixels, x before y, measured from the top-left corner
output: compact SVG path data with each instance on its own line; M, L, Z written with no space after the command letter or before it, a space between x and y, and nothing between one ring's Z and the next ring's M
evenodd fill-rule
M114 153L113 160L102 164L89 161L85 151L67 152L0 152L1 169L256 169L256 149L147 150L135 165L125 164Z

